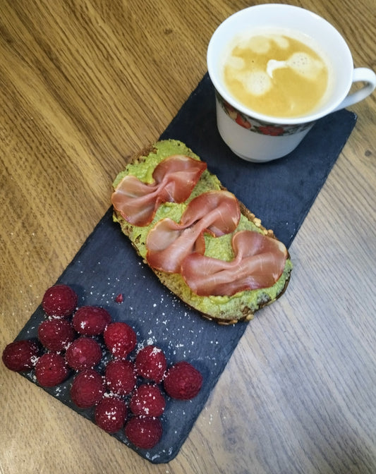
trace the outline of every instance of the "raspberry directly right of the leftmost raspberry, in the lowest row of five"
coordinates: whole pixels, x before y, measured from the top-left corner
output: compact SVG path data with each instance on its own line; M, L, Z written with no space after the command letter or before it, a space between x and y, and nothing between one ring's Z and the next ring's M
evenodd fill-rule
M43 354L35 365L35 377L42 387L55 387L68 377L68 367L63 356L54 352Z

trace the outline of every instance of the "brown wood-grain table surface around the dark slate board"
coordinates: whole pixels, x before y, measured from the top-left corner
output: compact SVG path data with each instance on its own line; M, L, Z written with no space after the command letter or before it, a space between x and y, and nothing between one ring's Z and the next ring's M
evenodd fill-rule
M374 0L291 3L375 68ZM1 0L1 351L204 75L214 29L248 5ZM178 456L143 460L1 363L1 474L376 472L376 95L351 110L289 291L248 324Z

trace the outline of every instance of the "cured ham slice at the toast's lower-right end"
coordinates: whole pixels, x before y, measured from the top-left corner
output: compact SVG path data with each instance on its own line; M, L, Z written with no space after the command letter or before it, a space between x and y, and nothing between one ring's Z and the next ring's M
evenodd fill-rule
M181 274L199 296L232 296L238 291L268 288L284 271L287 250L283 243L254 231L239 231L232 239L234 260L226 262L191 253Z

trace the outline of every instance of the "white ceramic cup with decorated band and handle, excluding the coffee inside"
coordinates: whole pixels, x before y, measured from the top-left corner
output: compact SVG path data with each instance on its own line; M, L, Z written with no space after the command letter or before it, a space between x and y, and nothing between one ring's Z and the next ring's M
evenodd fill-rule
M310 37L324 51L332 71L329 97L314 113L298 118L267 116L238 102L223 80L224 51L231 39L253 30L286 29ZM207 49L207 69L216 92L217 126L222 139L239 157L269 162L284 157L303 140L317 119L365 99L376 87L368 68L353 68L351 52L339 32L320 16L285 4L262 4L234 13L215 30ZM349 94L351 85L363 87Z

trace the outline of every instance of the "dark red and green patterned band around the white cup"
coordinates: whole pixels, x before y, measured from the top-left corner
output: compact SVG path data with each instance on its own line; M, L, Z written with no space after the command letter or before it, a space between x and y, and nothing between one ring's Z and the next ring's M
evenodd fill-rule
M229 104L229 102L226 102L226 100L217 91L215 91L215 94L219 104L221 104L222 109L224 109L230 119L236 121L236 123L238 123L238 125L241 127L254 133L279 137L282 135L293 135L293 133L302 132L313 125L312 122L299 123L298 125L275 125L273 123L257 121L252 117L236 110L231 104Z

